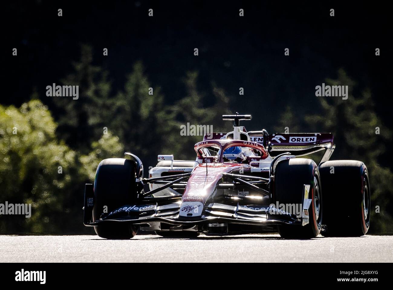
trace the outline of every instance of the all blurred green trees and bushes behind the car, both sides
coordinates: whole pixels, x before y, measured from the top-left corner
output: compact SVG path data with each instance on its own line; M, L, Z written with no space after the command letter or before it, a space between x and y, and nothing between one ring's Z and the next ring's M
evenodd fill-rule
M187 72L185 96L168 104L141 62L132 66L124 88L114 91L107 72L92 61L91 48L83 46L74 72L62 80L79 85L79 99L53 97L55 120L38 95L20 108L0 105L0 202L32 203L29 219L0 216L0 233L91 233L82 224L84 183L93 182L102 159L130 151L146 169L155 166L159 153L192 160L193 145L201 137L180 136L180 125L212 124L216 132L227 131L220 115L233 113L233 96L214 82L201 91L197 72ZM372 202L380 206L380 213L371 217L371 232L391 233L393 174L378 163L386 153L381 139L389 140L391 133L381 127L371 92L355 92L356 84L343 70L326 83L349 85L348 100L319 97L321 115L299 117L286 107L275 129L332 132L337 144L332 159L358 159L369 169Z

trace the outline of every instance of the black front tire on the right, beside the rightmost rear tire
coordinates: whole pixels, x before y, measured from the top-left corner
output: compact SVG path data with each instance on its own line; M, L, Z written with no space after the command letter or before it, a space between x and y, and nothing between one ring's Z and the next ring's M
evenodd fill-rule
M280 161L274 172L274 199L284 204L301 204L303 209L303 185L310 185L309 224L278 225L283 238L315 238L322 225L322 192L317 164L311 159L291 158Z

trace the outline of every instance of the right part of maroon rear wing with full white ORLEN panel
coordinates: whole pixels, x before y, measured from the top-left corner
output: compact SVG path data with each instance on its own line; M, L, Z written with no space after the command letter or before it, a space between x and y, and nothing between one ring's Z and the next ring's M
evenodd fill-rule
M320 163L328 161L336 148L332 133L275 133L268 136L272 156L290 152L292 155L304 156L325 150Z

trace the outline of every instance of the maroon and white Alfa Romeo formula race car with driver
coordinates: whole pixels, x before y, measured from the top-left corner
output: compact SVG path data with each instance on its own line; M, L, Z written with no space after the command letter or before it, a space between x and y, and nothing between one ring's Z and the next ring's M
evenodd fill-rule
M132 153L101 161L94 185L85 186L84 225L94 226L102 238L132 238L138 230L167 237L367 233L367 168L361 161L329 161L335 148L331 133L270 135L240 126L251 115L222 117L234 122L233 131L196 143L195 161L158 155L149 178ZM323 150L318 164L297 158Z

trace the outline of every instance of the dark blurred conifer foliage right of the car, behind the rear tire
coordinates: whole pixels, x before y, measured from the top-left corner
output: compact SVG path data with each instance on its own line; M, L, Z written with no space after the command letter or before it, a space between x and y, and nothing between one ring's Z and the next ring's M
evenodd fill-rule
M371 187L371 233L393 233L393 173L380 161L386 152L384 145L391 139L391 131L375 113L371 92L358 88L343 69L337 79L326 79L326 85L348 85L348 99L319 97L322 114L309 115L305 122L312 131L333 133L336 143L331 160L363 161L369 171ZM379 127L379 134L376 129ZM338 199L340 207L340 199ZM345 207L345 205L341 205ZM380 208L376 213L376 207Z

